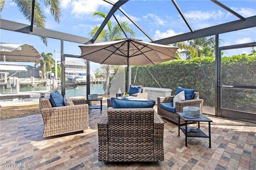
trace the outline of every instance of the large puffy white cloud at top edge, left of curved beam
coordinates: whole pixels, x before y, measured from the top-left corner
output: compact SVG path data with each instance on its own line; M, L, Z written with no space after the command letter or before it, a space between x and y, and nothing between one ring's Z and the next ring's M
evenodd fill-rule
M76 18L84 18L85 16L92 16L92 12L100 10L100 7L111 8L112 5L103 0L63 0L61 2L62 9L69 10L76 16Z

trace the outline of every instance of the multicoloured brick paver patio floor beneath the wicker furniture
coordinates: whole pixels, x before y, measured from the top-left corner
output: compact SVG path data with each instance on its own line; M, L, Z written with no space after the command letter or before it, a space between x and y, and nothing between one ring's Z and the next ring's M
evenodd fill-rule
M155 110L157 110L155 108ZM103 106L103 113L106 105ZM178 125L164 120L164 161L162 162L98 162L99 109L89 115L89 130L42 138L40 114L0 121L1 169L184 169L236 170L256 169L256 125L206 115L212 119L212 148L208 138L178 136ZM196 126L197 124L189 125ZM208 123L200 123L208 133ZM16 166L16 167L14 167ZM19 166L23 166L19 168Z

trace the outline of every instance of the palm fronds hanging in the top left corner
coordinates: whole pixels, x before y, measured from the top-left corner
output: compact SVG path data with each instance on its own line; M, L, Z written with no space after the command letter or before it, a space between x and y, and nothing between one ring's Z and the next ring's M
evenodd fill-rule
M60 23L60 1L59 0L41 0L44 3L44 6L49 9L50 13L54 17L55 22ZM0 0L0 12L4 7L5 0ZM31 12L32 12L32 0L12 0L15 4L17 4L20 12L25 16L26 20L31 22ZM34 8L34 26L44 28L46 22L46 16L44 15L44 10L41 9L40 4L35 1ZM47 38L41 37L40 39L47 46Z

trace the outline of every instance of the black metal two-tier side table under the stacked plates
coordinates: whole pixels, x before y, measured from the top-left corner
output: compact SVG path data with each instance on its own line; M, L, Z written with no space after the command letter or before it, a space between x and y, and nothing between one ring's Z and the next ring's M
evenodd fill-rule
M178 136L180 136L180 130L182 130L182 132L185 134L185 141L186 141L186 146L188 146L188 137L194 137L194 138L209 138L209 148L211 148L211 126L210 123L212 122L211 119L209 119L208 117L205 117L204 115L200 114L200 117L196 117L196 118L188 118L188 117L184 117L184 113L178 113L179 115L179 131L178 131ZM180 118L183 119L185 121L185 127L180 127ZM188 132L187 128L188 128L188 122L198 122L198 128L197 132ZM200 129L200 122L208 122L209 125L209 136L207 134L205 134L201 129Z

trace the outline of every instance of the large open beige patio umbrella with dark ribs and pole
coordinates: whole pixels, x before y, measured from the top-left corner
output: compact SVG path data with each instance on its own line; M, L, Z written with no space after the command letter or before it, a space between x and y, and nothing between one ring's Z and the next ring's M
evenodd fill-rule
M176 47L125 38L79 46L79 58L107 65L153 65L176 59ZM129 70L127 70L129 71ZM129 85L129 82L128 82Z

